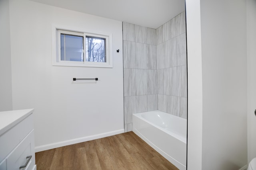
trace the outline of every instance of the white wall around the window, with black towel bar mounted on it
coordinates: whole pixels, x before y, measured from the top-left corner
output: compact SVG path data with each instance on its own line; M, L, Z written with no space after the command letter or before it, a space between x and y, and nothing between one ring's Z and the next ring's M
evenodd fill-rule
M113 68L52 66L52 24L112 33ZM35 109L36 151L124 131L122 22L10 0L10 35L13 108Z

